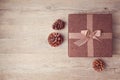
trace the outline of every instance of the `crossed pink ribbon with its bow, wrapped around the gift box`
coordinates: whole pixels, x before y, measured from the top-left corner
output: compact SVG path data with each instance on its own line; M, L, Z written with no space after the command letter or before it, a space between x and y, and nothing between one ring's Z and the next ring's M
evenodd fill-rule
M111 39L112 33L102 33L101 30L93 31L93 15L87 15L87 30L80 33L69 33L69 39L78 39L74 42L77 46L87 43L88 56L94 56L93 39L102 42L101 39Z

